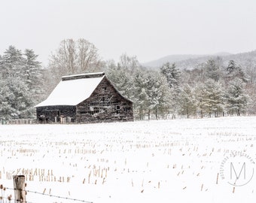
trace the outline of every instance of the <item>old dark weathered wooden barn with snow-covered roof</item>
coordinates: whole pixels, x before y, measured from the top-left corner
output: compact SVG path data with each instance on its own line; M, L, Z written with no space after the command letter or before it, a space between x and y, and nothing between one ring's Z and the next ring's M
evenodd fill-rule
M133 102L120 95L103 72L62 77L35 108L39 123L133 121Z

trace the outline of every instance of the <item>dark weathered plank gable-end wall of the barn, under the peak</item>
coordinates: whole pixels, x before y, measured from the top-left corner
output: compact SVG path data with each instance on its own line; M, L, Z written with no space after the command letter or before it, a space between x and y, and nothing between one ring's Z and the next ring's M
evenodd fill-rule
M77 122L132 121L133 102L124 98L104 77L90 98L77 105Z

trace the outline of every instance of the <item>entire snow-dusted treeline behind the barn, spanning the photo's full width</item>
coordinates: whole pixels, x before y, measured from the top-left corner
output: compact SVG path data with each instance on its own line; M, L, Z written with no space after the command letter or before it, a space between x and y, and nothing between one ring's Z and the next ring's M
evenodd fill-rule
M136 56L118 62L102 61L85 39L63 40L47 67L33 50L10 46L0 55L0 120L35 117L34 106L59 83L63 75L105 71L120 93L134 102L138 120L170 117L221 117L255 114L255 65L243 68L233 60L208 59L191 70L175 63L152 70Z

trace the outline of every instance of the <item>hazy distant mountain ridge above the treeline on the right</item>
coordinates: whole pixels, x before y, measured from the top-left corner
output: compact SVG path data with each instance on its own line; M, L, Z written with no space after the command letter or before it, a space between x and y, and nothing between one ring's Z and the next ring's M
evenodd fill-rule
M256 65L256 50L247 53L215 53L212 55L169 55L163 58L142 63L143 66L147 68L160 68L164 63L170 62L176 64L177 68L183 69L194 69L200 64L206 62L208 59L221 59L224 64L227 64L230 60L234 60L239 65L247 66L248 64Z

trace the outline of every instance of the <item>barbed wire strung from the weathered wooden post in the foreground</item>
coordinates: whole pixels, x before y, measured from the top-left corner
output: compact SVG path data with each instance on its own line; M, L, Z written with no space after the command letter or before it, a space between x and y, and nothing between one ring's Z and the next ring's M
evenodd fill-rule
M9 189L9 190L14 190L14 188L10 188L10 187L5 187L5 189ZM21 190L21 189L20 189ZM44 195L44 196L48 196L48 197L51 197L51 198L60 198L60 199L66 199L66 200L69 200L69 201L79 201L79 202L86 202L86 203L93 203L93 201L86 201L86 200L81 200L81 199L78 199L78 198L69 198L69 197L63 197L63 196L60 196L60 195L50 195L50 194L45 194L43 192L36 192L36 191L31 191L31 190L21 190L21 191L25 191L27 193L34 193L34 194L37 194L37 195ZM6 201L4 202L11 202L11 200L13 199L10 199L9 197L6 198L6 197L2 197L2 199L6 199ZM0 203L2 201L0 200ZM32 201L23 201L24 203L36 203L36 202L32 202Z

